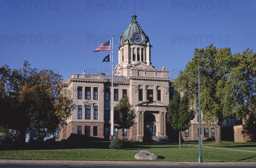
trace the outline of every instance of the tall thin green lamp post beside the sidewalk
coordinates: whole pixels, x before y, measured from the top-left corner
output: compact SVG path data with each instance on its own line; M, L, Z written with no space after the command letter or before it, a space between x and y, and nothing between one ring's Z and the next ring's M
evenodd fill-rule
M208 62L212 62L213 60L207 60L203 66L200 68L200 66L198 65L198 137L199 137L199 156L198 156L198 163L202 163L203 162L203 157L201 154L201 110L200 110L200 70L204 67L204 65Z

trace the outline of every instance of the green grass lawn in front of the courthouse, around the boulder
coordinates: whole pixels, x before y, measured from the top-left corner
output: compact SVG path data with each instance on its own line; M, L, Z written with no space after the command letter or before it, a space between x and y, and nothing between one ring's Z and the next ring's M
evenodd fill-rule
M93 148L73 148L73 149L47 149L47 150L1 150L0 159L49 159L49 160L122 160L135 161L134 155L145 149L156 154L157 161L189 161L197 162L198 147L166 143L125 142L125 149L115 150L107 148L109 142L100 142L100 148L93 142ZM203 142L204 143L204 142ZM103 145L102 145L103 144ZM193 142L190 142L193 144ZM212 142L204 145L218 146L225 148L254 148L256 143L245 142L239 145L233 142L223 143L223 146L214 145ZM195 144L196 145L196 144ZM252 145L248 147L247 145ZM239 147L236 147L239 146ZM244 148L242 147L244 146ZM103 148L102 148L103 147ZM256 162L256 153L230 151L224 149L202 148L204 162Z

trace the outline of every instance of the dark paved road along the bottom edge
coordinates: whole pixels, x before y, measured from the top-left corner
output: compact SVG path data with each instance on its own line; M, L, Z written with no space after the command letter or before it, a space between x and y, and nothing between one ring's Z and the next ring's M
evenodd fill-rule
M256 165L99 165L1 163L1 168L256 168Z

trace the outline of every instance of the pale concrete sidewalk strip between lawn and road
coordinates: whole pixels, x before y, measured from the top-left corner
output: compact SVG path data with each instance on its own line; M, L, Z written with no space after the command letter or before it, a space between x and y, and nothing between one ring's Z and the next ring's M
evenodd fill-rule
M161 162L161 161L92 161L92 160L12 160L0 159L0 163L34 164L102 164L102 165L255 165L256 162Z

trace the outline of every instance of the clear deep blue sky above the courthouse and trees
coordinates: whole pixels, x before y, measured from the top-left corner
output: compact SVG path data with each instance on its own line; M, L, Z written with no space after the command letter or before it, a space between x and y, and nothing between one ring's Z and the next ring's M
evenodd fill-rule
M233 53L256 51L255 0L0 0L0 65L73 73L105 72L109 53L93 51L114 35L114 65L120 33L135 12L153 46L151 62L176 78L194 48L213 43Z

